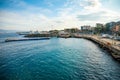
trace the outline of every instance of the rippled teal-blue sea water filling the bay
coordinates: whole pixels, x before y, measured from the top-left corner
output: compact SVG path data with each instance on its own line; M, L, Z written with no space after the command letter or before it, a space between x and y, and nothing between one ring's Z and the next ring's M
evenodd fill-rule
M4 42L0 80L119 80L120 63L95 43L77 38Z

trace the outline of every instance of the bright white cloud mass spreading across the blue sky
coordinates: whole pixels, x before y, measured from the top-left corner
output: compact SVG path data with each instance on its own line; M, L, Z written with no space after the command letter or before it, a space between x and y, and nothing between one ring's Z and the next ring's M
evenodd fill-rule
M16 3L16 2L15 2ZM51 6L53 4L48 3ZM24 2L25 11L0 11L1 29L50 30L95 25L119 20L120 15L102 7L99 0L68 0L57 12L50 9L31 6ZM52 17L50 15L53 15Z

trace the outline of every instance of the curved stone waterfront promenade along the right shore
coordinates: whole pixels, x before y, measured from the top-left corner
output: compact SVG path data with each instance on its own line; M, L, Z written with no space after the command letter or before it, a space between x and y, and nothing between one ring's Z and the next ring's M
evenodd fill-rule
M120 41L101 38L100 36L81 36L81 38L97 43L101 48L107 50L116 60L120 61Z

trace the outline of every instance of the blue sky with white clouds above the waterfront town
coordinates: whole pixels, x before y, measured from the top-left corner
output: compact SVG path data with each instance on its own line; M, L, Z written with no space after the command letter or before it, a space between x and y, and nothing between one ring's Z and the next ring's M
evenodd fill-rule
M120 0L0 0L0 29L51 30L120 20Z

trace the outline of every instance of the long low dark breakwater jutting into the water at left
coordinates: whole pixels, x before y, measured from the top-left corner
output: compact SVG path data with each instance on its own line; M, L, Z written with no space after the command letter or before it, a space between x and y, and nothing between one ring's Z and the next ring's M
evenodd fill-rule
M43 37L43 38L11 38L6 39L5 42L13 42L13 41L30 41L30 40L48 40L50 37Z

